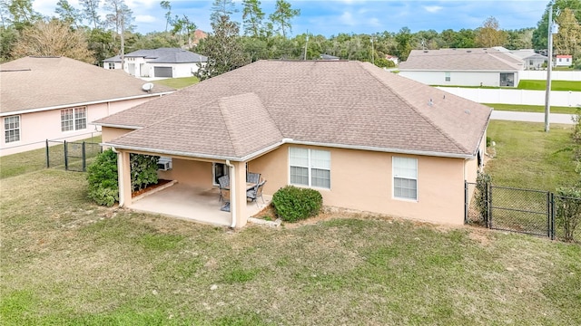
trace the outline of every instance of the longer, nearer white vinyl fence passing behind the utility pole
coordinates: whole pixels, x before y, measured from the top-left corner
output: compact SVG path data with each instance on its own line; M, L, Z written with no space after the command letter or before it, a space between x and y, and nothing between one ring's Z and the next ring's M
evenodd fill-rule
M545 91L437 87L478 103L545 105ZM551 91L551 106L581 106L581 91Z

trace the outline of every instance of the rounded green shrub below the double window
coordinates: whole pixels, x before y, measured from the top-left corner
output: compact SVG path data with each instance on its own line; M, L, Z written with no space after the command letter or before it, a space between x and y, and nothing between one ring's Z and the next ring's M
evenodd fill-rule
M320 192L309 188L287 186L272 196L276 215L286 222L296 222L319 214L323 204Z

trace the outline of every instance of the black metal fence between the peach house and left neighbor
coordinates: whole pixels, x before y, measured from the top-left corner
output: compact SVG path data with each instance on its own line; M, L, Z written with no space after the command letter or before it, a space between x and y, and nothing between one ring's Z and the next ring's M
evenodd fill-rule
M46 168L84 172L101 152L103 147L98 143L46 139Z

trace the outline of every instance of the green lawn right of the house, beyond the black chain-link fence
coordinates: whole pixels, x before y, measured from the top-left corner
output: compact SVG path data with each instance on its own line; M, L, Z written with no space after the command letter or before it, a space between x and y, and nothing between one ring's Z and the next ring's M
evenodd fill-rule
M579 179L572 161L572 126L491 120L487 136L496 142L496 156L487 172L497 186L554 191Z

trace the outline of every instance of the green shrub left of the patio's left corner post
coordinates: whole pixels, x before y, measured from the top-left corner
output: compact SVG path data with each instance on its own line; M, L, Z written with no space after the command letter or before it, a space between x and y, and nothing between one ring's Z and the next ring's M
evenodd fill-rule
M89 198L103 206L113 206L119 201L117 180L117 154L112 149L104 150L87 168Z

